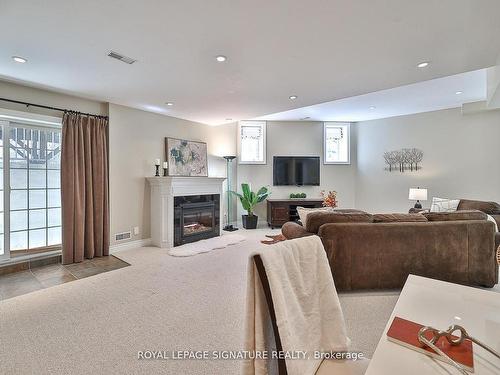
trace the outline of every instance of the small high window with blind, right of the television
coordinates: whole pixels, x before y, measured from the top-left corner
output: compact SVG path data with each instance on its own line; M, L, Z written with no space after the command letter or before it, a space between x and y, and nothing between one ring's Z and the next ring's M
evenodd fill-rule
M324 123L325 164L350 164L350 124Z

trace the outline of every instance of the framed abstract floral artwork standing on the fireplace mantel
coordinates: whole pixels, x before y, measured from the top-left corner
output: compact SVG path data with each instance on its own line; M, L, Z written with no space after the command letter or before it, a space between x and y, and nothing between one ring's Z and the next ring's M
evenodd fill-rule
M206 143L167 137L165 154L169 176L208 177Z

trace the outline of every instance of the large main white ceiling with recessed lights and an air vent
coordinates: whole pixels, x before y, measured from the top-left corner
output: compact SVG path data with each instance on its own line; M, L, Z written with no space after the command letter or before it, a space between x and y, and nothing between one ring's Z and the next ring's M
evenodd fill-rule
M220 124L492 66L499 14L498 0L2 0L0 77Z

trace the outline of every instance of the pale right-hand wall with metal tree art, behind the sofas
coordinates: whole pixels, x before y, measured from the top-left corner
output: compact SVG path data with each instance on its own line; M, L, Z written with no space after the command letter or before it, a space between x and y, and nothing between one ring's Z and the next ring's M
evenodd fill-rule
M429 189L429 199L500 202L500 111L462 115L457 108L360 122L356 127L357 208L406 212L413 206L408 189L417 186ZM383 153L405 147L424 151L422 170L385 171Z

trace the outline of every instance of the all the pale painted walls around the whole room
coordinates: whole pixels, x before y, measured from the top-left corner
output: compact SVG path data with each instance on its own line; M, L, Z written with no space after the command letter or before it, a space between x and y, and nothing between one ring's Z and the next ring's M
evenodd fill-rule
M211 176L225 176L221 157L236 154L236 124L209 127L5 81L0 81L0 97L96 114L109 112L111 238L134 226L140 227L140 234L133 239L149 237L150 200L145 177L153 173L153 159L164 159L164 137L207 142ZM59 112L4 102L0 107L61 116ZM322 164L320 187L273 187L273 156L323 158L323 123L271 121L267 126L267 165L234 165L233 189L237 184L239 190L241 182L251 182L254 189L270 185L273 198L302 191L315 198L322 189L337 190L341 207L370 212L407 211L413 205L407 199L408 189L416 186L427 187L430 198L500 202L499 139L500 111L462 115L460 109L450 109L360 122L351 126L351 165ZM423 169L404 174L385 171L384 151L404 147L425 152ZM239 217L242 210L237 206ZM265 211L265 204L256 210L262 221Z

